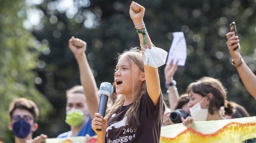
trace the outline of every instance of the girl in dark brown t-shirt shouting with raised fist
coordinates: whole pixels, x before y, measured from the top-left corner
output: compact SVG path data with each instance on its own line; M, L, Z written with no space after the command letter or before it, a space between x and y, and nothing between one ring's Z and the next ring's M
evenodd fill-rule
M159 143L165 108L158 67L165 64L167 52L153 47L143 22L144 12L144 7L132 2L130 16L139 34L141 51L131 48L117 57L115 83L121 96L106 117L95 113L92 128L97 143Z

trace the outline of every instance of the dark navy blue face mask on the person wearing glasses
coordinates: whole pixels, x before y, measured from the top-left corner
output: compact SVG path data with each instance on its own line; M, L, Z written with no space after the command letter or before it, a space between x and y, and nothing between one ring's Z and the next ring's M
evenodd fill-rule
M23 119L20 119L19 121L12 124L12 132L18 138L27 137L30 133L30 130L31 125Z

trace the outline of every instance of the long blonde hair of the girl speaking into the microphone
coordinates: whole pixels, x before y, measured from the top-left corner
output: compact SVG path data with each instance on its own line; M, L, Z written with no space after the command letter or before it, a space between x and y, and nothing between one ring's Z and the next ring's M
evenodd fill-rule
M118 60L124 57L128 60L129 66L130 66L130 72L131 72L131 60L135 62L136 65L138 65L139 69L144 72L144 63L143 63L143 57L141 51L138 49L138 47L132 47L130 50L125 50L122 54L117 55L117 62ZM132 75L132 73L131 73ZM133 81L133 91L134 94L134 79L132 77ZM142 82L142 86L140 87L139 94L135 95L134 101L131 105L131 107L126 111L124 117L127 117L126 120L126 126L125 128L131 128L131 129L137 129L139 127L139 118L140 118L140 100L146 93L146 81ZM124 96L121 95L120 98L117 99L117 101L114 103L112 107L110 107L106 112L106 117L110 118L110 116L117 112L117 110L123 105L124 103Z

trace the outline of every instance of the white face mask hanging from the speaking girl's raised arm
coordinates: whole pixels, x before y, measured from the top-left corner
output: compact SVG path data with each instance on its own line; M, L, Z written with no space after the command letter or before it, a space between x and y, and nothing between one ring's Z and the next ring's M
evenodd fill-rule
M142 51L144 52L144 56L143 56L144 65L158 68L161 65L165 64L167 54L168 54L166 51L158 47L147 46L147 49L143 48L141 45L140 47L145 50L145 51Z

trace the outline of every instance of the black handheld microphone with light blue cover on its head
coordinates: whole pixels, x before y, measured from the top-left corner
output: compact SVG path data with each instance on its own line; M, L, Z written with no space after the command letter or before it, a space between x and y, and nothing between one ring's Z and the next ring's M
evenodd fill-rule
M99 87L99 109L98 113L104 118L106 114L106 108L108 103L108 98L110 97L110 94L113 93L113 87L112 84L109 82L103 82L100 84ZM101 131L101 129L96 129L97 131Z

